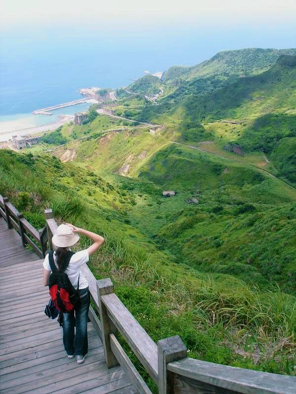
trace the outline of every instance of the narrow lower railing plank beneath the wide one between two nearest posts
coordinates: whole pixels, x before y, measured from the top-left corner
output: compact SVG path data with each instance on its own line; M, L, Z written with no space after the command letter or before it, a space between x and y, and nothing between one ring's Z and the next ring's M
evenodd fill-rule
M119 364L124 369L127 376L130 378L132 383L137 389L139 394L151 394L147 384L144 382L142 376L139 374L137 369L134 367L132 361L127 357L120 343L116 339L114 334L110 335L111 350L118 360Z

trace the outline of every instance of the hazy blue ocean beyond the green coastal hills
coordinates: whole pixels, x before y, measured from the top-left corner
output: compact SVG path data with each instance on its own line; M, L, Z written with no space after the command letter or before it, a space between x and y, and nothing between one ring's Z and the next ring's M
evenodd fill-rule
M36 109L80 98L80 88L127 86L145 70L192 66L220 50L260 46L264 41L231 30L221 34L203 27L156 26L144 32L128 26L128 31L116 31L116 26L109 31L52 26L37 32L1 32L0 134L56 122L58 113L85 110L87 105L81 104L54 111L52 116L32 115Z

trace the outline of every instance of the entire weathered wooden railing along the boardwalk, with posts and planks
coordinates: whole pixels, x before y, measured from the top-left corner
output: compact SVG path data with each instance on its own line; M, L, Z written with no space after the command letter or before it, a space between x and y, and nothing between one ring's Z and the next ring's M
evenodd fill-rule
M44 255L47 241L52 249L51 240L57 224L51 209L45 210L46 227L40 231L35 230L8 199L1 196L0 215L9 228L14 227L21 234L24 244L32 246L28 234L34 237L41 245L41 249L36 245L34 249L39 256ZM296 377L188 358L186 346L178 335L161 339L156 344L114 294L110 278L96 280L86 264L81 266L81 272L89 284L94 305L94 309L89 308L89 318L102 340L106 364L108 368L120 364L139 394L151 394L151 391L119 343L118 333L156 383L159 394L296 393Z

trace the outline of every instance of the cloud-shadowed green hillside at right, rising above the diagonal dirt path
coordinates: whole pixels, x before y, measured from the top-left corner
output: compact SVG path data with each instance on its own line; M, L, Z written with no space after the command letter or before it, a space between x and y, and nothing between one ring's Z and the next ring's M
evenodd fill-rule
M220 152L225 144L237 143L245 153L263 152L275 165L273 173L294 183L295 87L296 56L283 55L261 74L206 95L189 94L177 104L147 105L135 117L174 124L181 142L214 141ZM227 120L237 124L222 123Z

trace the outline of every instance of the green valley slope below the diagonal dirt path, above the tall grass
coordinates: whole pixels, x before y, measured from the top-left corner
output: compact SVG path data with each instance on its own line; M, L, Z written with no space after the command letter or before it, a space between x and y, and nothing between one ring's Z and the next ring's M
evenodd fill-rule
M154 208L158 227L143 222L161 247L198 269L296 291L295 190L254 168L184 146L160 151L141 176L178 193L174 202L164 199L163 208ZM185 199L192 196L199 203L188 206Z

